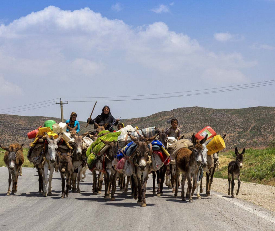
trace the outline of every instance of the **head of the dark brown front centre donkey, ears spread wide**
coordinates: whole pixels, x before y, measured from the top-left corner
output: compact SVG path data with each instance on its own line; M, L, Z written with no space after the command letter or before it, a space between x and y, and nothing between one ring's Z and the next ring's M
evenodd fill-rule
M135 149L137 165L140 171L144 171L146 169L146 165L148 164L147 161L149 160L150 155L150 149L148 148L148 144L155 140L158 134L144 140L137 139L130 134L128 135L131 137L131 140L137 144L137 148Z

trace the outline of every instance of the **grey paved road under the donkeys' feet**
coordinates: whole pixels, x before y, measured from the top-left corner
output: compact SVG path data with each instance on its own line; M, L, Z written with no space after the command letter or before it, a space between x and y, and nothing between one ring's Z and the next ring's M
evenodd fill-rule
M54 174L53 195L44 198L35 169L23 168L17 194L6 196L8 170L0 167L0 230L275 230L275 213L225 194L187 203L165 187L156 197L150 177L142 208L129 193L117 191L115 201L93 195L91 177L81 182L81 193L60 199L60 175Z

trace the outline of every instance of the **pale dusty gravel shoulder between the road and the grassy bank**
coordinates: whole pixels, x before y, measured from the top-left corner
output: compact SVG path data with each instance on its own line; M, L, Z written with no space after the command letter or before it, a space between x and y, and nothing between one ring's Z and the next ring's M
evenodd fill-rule
M206 186L205 177L203 177L203 187ZM275 187L269 185L262 185L256 183L248 183L241 181L239 195L236 196L237 180L235 180L234 196L252 202L256 205L262 206L266 209L275 212ZM211 190L228 193L228 180L221 178L213 178ZM203 191L205 193L205 191ZM211 191L210 191L211 193Z

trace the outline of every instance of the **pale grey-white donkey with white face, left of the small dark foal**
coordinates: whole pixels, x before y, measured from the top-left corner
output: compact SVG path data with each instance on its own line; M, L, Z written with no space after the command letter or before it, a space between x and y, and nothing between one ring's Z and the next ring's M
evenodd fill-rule
M57 155L57 149L58 149L58 143L62 139L63 132L60 133L60 135L54 139L52 136L51 138L46 134L46 139L48 141L48 148L46 149L44 153L44 167L42 163L42 168L44 168L43 172L43 182L44 182L44 189L43 189L43 196L47 196L47 184L48 185L48 195L52 195L52 174L54 173L54 163L56 162L56 155ZM48 169L50 170L49 179L48 179Z

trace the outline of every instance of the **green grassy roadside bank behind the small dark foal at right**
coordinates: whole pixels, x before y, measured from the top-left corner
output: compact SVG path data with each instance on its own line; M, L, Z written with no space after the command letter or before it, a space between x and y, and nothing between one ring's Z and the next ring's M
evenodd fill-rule
M221 165L219 170L215 171L214 177L227 178L228 163L235 160L235 157L234 151L220 153ZM240 178L242 181L275 186L275 148L246 149Z

